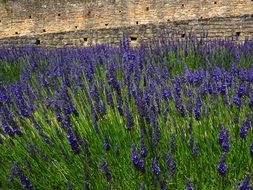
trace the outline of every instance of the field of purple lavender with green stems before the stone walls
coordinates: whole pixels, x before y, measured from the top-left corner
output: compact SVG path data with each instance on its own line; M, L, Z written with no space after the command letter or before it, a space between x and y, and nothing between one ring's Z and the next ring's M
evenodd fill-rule
M253 189L253 41L0 50L0 189Z

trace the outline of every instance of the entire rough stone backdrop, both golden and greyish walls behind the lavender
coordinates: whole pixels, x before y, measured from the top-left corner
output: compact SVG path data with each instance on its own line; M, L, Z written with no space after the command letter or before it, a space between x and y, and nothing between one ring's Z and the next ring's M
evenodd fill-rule
M123 32L134 44L165 29L244 40L252 20L252 0L6 0L0 44L117 44Z

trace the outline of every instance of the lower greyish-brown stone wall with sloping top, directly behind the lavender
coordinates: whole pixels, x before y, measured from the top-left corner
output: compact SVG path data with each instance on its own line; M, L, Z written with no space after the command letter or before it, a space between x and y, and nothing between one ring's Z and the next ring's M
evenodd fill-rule
M184 39L192 32L199 38L229 38L234 41L243 41L253 36L253 15L12 36L0 39L0 45L87 46L100 43L118 45L124 34L128 34L131 44L136 45L141 41L150 41L154 36L161 34L170 39Z

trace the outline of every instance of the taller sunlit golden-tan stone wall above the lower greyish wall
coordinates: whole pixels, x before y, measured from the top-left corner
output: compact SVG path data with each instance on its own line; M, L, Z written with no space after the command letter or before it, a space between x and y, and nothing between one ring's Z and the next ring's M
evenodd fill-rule
M103 29L94 34L99 41L100 33L118 31L123 26L140 30L143 24L148 24L147 30L152 30L150 23L169 22L168 27L173 28L171 21L195 19L190 24L199 29L194 23L202 26L208 18L243 14L253 14L253 0L1 0L0 38L48 33L46 36L50 38L55 35L51 33L58 35L65 31L71 31L71 35L80 33L82 37L90 36L87 29ZM59 34L59 38L70 33ZM46 41L45 36L41 38L44 38L41 42Z

